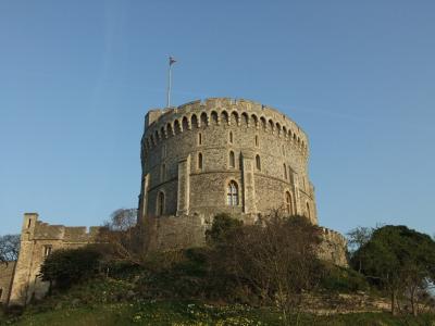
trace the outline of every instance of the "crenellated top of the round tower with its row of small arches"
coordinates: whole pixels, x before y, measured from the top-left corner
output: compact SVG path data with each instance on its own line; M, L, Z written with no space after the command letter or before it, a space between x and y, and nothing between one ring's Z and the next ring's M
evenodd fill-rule
M148 152L162 139L194 127L221 124L246 126L275 135L300 150L308 160L308 137L293 120L274 108L254 101L229 98L210 98L177 108L150 110L145 120L142 149Z

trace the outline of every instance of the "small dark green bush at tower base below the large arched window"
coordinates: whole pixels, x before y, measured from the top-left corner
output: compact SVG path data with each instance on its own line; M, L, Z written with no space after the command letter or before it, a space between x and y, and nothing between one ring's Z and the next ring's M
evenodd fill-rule
M227 237L243 226L243 221L236 220L228 214L221 213L214 216L213 225L206 231L207 242L209 244L219 244L225 242Z

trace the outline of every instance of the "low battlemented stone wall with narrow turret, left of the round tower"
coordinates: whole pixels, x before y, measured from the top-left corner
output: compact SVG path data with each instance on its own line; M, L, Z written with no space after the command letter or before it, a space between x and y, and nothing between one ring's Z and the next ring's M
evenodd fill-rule
M48 283L41 281L40 266L48 254L58 249L73 249L95 242L99 227L66 227L38 221L38 214L24 214L20 255L12 279L9 305L24 305L41 299Z

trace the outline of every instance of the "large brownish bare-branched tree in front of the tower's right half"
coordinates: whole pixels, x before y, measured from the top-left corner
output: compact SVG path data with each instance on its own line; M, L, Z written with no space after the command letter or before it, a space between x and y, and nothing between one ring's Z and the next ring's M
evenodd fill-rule
M224 264L262 300L275 303L285 324L295 323L303 294L318 288L322 275L316 254L320 230L303 216L285 218L278 211L262 220L225 237L216 264ZM290 321L291 315L297 321Z

